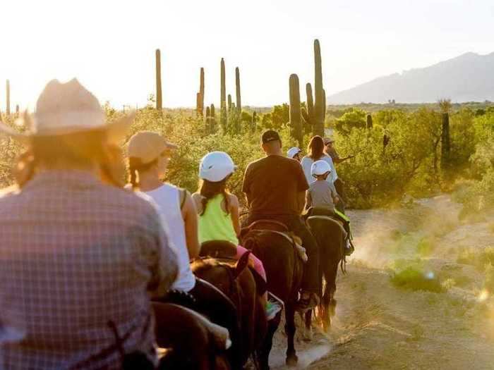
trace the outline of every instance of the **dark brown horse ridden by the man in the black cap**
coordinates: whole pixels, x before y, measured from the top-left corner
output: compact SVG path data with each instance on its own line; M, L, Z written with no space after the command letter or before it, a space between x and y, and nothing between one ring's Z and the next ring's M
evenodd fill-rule
M294 242L287 234L288 228L277 221L259 220L243 228L241 242L263 261L267 275L267 290L284 302L285 332L287 333L286 364L295 366L298 362L294 345L295 304L298 300L302 283L303 262ZM292 235L293 237L293 235ZM268 360L272 348L272 338L281 321L281 312L268 323L267 335L260 350L258 360L260 368L270 369Z

